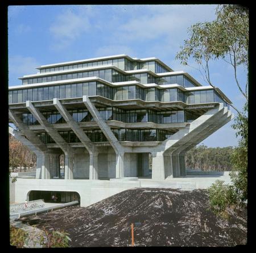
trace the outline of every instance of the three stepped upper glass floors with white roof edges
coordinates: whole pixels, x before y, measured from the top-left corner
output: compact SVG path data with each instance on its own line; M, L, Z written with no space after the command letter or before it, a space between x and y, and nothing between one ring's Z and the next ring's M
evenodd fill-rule
M24 75L22 85L9 87L9 104L26 100L103 96L112 100L232 103L220 89L201 86L184 71L174 71L158 58L126 54L42 65L40 73Z

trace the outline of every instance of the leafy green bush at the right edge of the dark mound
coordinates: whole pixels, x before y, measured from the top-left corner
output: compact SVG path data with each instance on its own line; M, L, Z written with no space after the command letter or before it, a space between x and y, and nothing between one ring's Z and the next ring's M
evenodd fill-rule
M224 184L222 180L216 180L208 188L208 192L212 212L223 218L228 218L228 208L237 204L233 185Z

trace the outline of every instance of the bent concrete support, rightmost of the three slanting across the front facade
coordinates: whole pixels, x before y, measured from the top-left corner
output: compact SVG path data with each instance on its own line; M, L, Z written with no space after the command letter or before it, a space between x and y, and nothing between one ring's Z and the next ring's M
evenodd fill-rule
M86 108L90 112L90 114L93 116L94 120L100 126L100 129L105 134L106 138L112 145L115 154L116 154L116 167L115 167L115 177L116 178L122 178L124 176L124 154L125 149L121 144L119 144L119 141L114 136L112 130L109 128L109 126L105 123L104 119L101 119L100 113L98 113L98 110L94 106L93 103L90 102L90 99L88 96L82 97L82 102L84 102Z

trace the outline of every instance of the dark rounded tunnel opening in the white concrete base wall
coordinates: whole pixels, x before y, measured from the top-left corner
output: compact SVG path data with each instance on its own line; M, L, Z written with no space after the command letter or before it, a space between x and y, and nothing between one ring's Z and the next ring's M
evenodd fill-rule
M60 191L31 191L28 197L29 201L43 199L46 203L68 203L79 201L80 195L77 192L60 192Z

